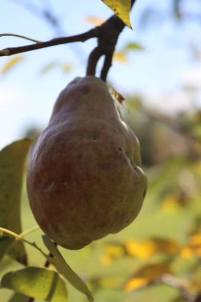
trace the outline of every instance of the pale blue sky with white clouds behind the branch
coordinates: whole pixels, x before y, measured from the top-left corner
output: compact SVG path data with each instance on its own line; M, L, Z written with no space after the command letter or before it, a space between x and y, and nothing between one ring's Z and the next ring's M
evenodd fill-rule
M46 21L20 5L33 3L40 9L49 2L54 14L61 19L66 35L89 30L92 25L85 21L86 16L108 18L112 15L100 0L0 0L0 33L20 34L41 41L56 37L56 32ZM172 113L191 106L180 91L186 81L201 86L201 63L192 60L188 48L189 43L200 39L201 26L193 21L178 25L171 19L152 25L146 31L138 26L141 12L146 8L153 7L171 14L171 2L137 0L131 13L133 31L129 28L123 31L117 50L127 42L139 42L146 50L130 53L127 64L115 61L109 80L122 94L143 93L148 105ZM185 2L184 8L198 12L197 0ZM201 10L198 13L201 14ZM1 37L0 49L28 43L15 37ZM86 58L95 45L96 40L92 39L31 51L25 54L18 67L5 76L0 75L0 148L21 138L23 129L30 124L46 126L59 92L75 77L85 75ZM0 57L0 72L8 58ZM46 75L39 73L42 67L55 60L72 62L72 72L63 74L55 69Z

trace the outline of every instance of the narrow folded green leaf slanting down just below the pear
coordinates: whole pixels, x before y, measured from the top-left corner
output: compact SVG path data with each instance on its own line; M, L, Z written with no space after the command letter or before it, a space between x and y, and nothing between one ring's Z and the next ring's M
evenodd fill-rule
M42 238L46 248L57 258L50 259L49 257L50 262L76 289L85 293L89 301L93 301L93 296L85 282L68 266L54 243L47 236L42 236Z

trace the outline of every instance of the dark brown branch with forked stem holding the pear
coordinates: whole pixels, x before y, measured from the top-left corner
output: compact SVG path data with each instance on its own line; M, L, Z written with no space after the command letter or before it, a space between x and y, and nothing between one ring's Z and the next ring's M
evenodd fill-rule
M131 0L131 8L135 2L136 0ZM96 37L98 39L98 45L94 50L91 51L89 55L86 74L95 75L97 62L99 58L102 57L102 55L105 55L104 66L100 74L100 79L106 81L107 74L112 65L113 53L115 51L117 40L124 27L125 27L124 22L121 19L119 19L118 16L113 15L102 25L94 27L93 29L83 34L75 35L71 37L56 38L50 41L41 42L37 44L6 48L0 51L0 56L13 55L17 53L22 53L22 52L32 51L36 49L42 49L45 47L72 43L72 42L84 42L90 38Z

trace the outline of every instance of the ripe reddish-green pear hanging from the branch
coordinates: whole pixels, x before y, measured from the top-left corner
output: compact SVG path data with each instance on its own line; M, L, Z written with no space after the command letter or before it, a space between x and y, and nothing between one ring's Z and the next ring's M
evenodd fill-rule
M74 79L58 96L29 163L27 191L43 232L78 250L126 228L147 190L140 145L106 83Z

